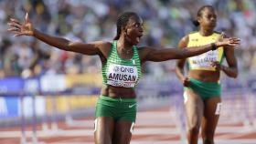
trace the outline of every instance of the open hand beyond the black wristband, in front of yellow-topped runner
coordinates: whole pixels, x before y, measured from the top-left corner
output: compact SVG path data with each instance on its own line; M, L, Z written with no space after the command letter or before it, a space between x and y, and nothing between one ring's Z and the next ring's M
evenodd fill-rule
M229 37L226 38L225 34L222 32L216 41L216 46L238 46L240 45L240 38Z

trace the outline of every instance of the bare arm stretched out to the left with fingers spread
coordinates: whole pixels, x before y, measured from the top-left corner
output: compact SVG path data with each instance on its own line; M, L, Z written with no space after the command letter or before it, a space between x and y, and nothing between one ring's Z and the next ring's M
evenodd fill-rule
M34 36L50 46L55 46L62 50L77 52L85 55L101 54L100 45L102 42L99 41L91 44L84 44L81 42L71 42L68 39L58 36L49 36L35 29L32 23L30 23L28 15L26 15L24 24L21 24L18 20L11 18L8 25L10 26L8 31L14 33L15 36Z

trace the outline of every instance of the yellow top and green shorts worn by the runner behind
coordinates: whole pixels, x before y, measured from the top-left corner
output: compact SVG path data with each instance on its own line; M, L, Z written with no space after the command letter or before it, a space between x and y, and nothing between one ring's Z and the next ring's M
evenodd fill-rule
M211 36L201 36L198 32L188 35L189 41L187 47L191 46L204 46L216 42L219 33L214 32ZM213 61L218 61L220 64L223 61L224 49L219 47L216 50L208 51L196 57L188 57L188 67L190 70L208 70L215 71L214 67L210 66ZM210 77L210 76L209 76ZM195 78L190 78L190 86L188 87L196 92L201 98L220 97L221 87L219 82L202 82ZM186 93L184 95L186 96Z

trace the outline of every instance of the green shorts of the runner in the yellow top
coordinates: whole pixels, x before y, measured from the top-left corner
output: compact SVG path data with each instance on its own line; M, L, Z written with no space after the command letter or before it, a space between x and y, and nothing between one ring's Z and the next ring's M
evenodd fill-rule
M195 78L190 78L190 86L185 89L187 88L193 90L202 99L221 96L221 86L218 82L202 82Z

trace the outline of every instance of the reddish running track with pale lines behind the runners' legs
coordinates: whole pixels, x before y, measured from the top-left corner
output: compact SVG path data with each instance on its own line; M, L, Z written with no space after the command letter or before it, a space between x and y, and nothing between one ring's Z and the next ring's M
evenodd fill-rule
M174 108L139 111L132 144L185 144L184 122ZM31 128L27 128L27 143L32 143ZM20 143L19 128L0 129L1 144ZM30 142L29 142L30 141ZM59 122L58 129L42 130L37 126L40 144L93 144L93 118ZM217 144L256 144L256 126L221 115L217 129ZM199 142L201 143L201 141Z

